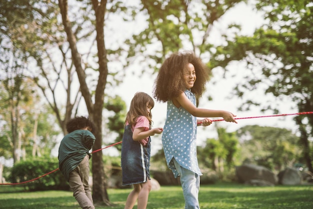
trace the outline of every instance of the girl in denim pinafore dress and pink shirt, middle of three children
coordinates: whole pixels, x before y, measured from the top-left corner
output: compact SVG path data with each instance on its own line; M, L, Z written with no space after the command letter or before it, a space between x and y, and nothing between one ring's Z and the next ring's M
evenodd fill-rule
M121 147L122 185L133 185L124 208L146 208L151 190L150 150L151 135L161 133L163 128L151 128L152 97L144 92L133 96L127 112Z

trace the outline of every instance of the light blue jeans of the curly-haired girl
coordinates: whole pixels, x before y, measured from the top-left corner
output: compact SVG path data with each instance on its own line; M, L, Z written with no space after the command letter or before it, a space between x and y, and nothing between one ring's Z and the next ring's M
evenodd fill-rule
M180 183L185 199L185 209L200 208L198 201L198 193L200 188L200 176L191 170L188 170L172 159L175 164L177 172L180 174Z

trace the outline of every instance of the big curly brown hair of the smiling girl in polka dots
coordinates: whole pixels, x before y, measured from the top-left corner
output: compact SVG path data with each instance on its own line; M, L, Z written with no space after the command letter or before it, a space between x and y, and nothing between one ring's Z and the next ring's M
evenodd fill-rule
M193 64L196 74L196 80L190 90L197 97L202 95L209 69L193 52L176 52L165 59L154 81L153 97L157 101L165 102L185 90L183 75L188 63Z

